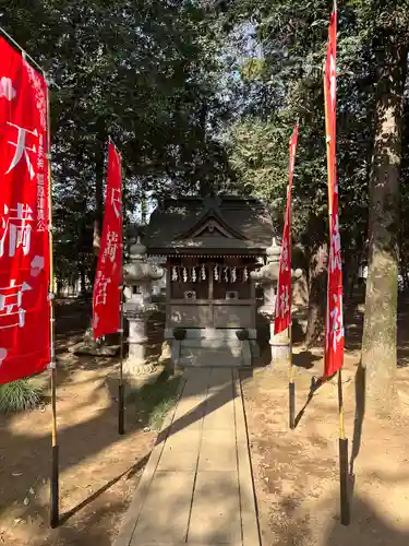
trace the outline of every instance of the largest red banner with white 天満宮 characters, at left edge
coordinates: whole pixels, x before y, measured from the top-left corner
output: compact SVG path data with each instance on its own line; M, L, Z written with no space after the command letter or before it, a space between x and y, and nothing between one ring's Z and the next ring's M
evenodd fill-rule
M0 38L0 384L50 363L47 93Z

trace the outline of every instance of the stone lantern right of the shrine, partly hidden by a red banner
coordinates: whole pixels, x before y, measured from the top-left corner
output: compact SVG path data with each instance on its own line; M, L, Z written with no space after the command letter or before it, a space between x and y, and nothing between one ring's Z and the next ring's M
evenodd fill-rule
M289 360L289 344L288 331L285 330L279 334L274 334L274 317L276 308L276 295L279 275L279 259L281 248L277 245L275 237L273 244L267 248L267 263L258 271L251 273L252 278L258 282L263 287L264 305L258 309L258 312L266 317L269 322L269 344L272 346L272 363L280 360ZM300 269L291 270L291 278L299 278L302 274Z

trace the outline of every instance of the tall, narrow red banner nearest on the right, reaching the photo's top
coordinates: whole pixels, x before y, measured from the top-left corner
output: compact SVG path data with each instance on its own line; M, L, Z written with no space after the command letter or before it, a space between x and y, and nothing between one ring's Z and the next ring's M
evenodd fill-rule
M344 364L342 263L339 236L338 177L336 164L336 50L337 12L330 16L324 86L328 154L329 261L326 306L324 377Z

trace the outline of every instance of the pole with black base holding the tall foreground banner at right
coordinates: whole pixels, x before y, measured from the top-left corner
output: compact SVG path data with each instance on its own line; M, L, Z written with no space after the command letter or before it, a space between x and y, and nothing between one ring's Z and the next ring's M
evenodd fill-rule
M334 3L336 9L336 3ZM329 221L329 241L332 240L333 234L333 173L330 171L329 162L329 138L328 138L328 111L327 104L328 97L325 84L325 68L323 71L324 80L324 112L325 112L325 135L326 135L326 153L327 153L327 176L328 176L328 221ZM327 293L327 305L328 305L328 293ZM340 495L340 521L342 525L349 525L350 523L350 508L349 508L349 495L348 495L348 439L345 436L345 418L344 418L344 393L342 393L342 371L341 368L338 370L338 417L339 417L339 495Z

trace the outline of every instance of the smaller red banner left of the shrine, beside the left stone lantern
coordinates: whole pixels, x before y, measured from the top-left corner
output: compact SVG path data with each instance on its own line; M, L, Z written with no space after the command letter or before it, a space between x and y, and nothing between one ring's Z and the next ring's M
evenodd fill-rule
M120 328L122 282L121 157L112 142L108 147L108 180L98 268L94 284L93 330L97 340Z

